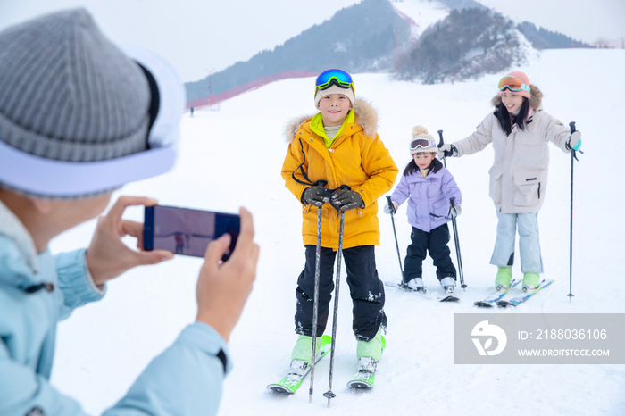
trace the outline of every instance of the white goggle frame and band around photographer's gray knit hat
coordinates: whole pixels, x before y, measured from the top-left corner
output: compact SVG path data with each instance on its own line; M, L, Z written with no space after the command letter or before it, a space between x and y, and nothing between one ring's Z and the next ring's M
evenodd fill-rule
M170 171L178 152L185 91L161 56L137 46L119 46L146 73L152 93L147 150L99 162L65 162L22 152L0 140L0 183L28 194L77 197L100 194Z

